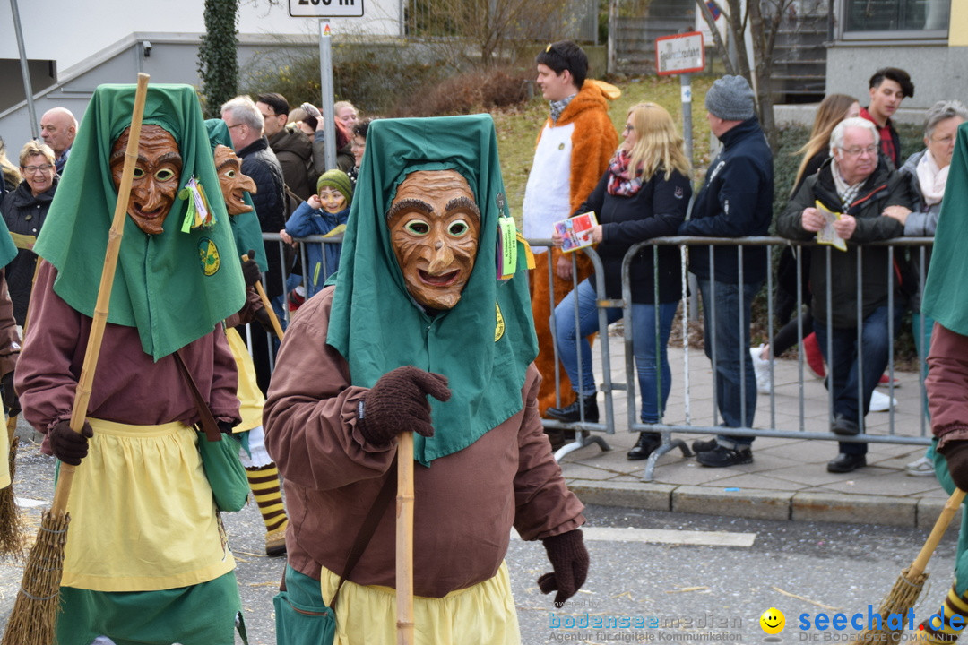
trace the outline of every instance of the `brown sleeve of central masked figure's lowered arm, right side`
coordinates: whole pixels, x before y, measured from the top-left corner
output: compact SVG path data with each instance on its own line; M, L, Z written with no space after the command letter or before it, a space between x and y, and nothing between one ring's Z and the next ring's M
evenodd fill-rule
M541 377L531 364L526 380L526 410L518 432L520 460L514 478L514 528L524 540L541 540L585 523L585 505L568 490L538 415Z

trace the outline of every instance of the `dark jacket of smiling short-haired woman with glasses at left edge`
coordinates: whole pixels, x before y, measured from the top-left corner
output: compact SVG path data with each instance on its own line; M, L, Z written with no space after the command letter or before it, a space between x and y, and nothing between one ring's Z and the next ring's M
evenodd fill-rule
M54 177L53 186L47 191L34 196L26 181L20 182L13 192L4 195L0 211L7 222L7 228L14 234L17 247L16 255L7 265L7 286L10 289L10 299L14 303L14 318L17 325L23 325L27 317L27 304L30 303L30 290L34 282L34 268L37 266L37 254L32 250L41 232L41 226L50 209L50 202L57 190ZM29 248L28 248L29 247Z

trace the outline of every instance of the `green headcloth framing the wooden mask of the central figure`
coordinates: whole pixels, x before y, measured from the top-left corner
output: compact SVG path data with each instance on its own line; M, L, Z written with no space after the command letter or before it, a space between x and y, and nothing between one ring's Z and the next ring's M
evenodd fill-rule
M481 239L460 302L431 317L408 293L385 216L409 172L437 169L457 170L468 180L481 210ZM514 277L498 279L501 216L507 205L489 115L378 119L370 126L326 341L347 359L353 385L373 387L407 365L449 379L449 401L429 397L434 436L414 436L414 457L424 465L468 447L522 409L537 339L521 245ZM503 319L497 339L495 305Z

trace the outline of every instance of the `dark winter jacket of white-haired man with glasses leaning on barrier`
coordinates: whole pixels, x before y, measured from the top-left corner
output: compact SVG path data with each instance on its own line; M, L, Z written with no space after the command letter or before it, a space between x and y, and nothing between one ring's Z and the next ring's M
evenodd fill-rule
M842 210L840 197L833 184L831 161L821 166L812 177L803 182L800 191L776 220L777 234L791 240L811 240L816 233L803 230L803 209L811 208L819 200L833 213ZM834 328L852 329L858 325L858 252L859 245L880 240L890 240L904 233L904 226L897 220L882 216L887 206L915 207L908 181L892 170L887 159L878 158L877 168L863 183L857 198L847 209L846 215L857 219L857 228L847 241L847 251L832 247L815 247L810 263L810 285L813 291L813 317L823 324L827 320L827 291L831 290ZM829 249L829 250L828 250ZM825 252L827 251L827 252ZM827 253L831 256L832 277L827 275ZM888 273L893 274L895 302L903 303L901 276L906 272L900 266L899 253L894 254L894 265L889 268L887 247L867 247L862 251L862 316L866 318L879 307L888 304Z

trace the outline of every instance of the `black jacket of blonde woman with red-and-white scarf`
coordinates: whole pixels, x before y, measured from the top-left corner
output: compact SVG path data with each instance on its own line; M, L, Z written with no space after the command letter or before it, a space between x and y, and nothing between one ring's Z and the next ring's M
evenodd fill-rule
M675 171L666 181L664 171L657 172L634 195L625 197L608 193L612 177L605 171L598 186L575 215L594 211L602 225L602 241L595 247L602 260L605 293L608 298L621 298L621 260L632 245L679 230L692 196L689 179ZM655 287L652 247L639 249L629 266L632 302L654 304ZM658 247L659 302L675 303L681 297L682 269L679 248Z

